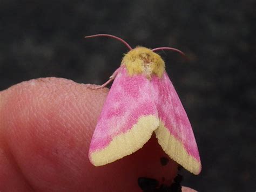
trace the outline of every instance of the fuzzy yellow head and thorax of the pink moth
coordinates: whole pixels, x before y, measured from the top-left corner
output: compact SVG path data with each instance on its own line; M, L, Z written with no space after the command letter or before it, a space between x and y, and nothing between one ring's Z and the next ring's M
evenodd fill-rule
M164 60L159 54L146 47L136 47L125 54L122 65L124 65L130 76L144 74L151 78L152 74L162 77L165 71Z

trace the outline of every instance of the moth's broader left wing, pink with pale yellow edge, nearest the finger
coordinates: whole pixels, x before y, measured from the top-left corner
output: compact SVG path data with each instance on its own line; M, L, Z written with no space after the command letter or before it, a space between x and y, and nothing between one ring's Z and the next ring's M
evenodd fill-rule
M95 166L136 152L159 126L150 81L120 67L93 133L89 159Z

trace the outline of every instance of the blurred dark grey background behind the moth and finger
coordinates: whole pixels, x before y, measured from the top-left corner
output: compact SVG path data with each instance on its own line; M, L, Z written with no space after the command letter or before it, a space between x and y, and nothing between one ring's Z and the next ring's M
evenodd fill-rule
M127 48L160 51L186 108L203 170L182 184L199 191L255 191L255 13L252 0L0 1L0 90L62 77L102 84Z

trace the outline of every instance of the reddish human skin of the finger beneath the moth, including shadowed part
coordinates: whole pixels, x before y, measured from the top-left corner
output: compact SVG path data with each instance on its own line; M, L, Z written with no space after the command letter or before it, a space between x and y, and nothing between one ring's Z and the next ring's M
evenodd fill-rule
M41 78L0 92L0 191L142 191L138 177L170 184L177 163L151 138L138 152L95 167L87 157L107 88ZM183 191L194 191L183 188Z

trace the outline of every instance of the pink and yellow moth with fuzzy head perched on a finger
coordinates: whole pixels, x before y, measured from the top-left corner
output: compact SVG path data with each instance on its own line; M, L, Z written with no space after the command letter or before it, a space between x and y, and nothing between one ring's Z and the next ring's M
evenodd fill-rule
M156 134L159 145L171 159L193 174L201 171L197 143L178 94L165 71L164 60L155 51L171 47L134 49L119 37L98 34L123 42L128 48L93 133L89 159L103 166L142 148Z

